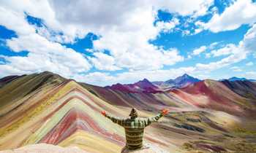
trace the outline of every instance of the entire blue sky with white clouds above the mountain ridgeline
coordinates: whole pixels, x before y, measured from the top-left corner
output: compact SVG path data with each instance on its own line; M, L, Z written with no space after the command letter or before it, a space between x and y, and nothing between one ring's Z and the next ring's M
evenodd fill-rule
M6 1L0 14L0 76L256 79L255 1Z

